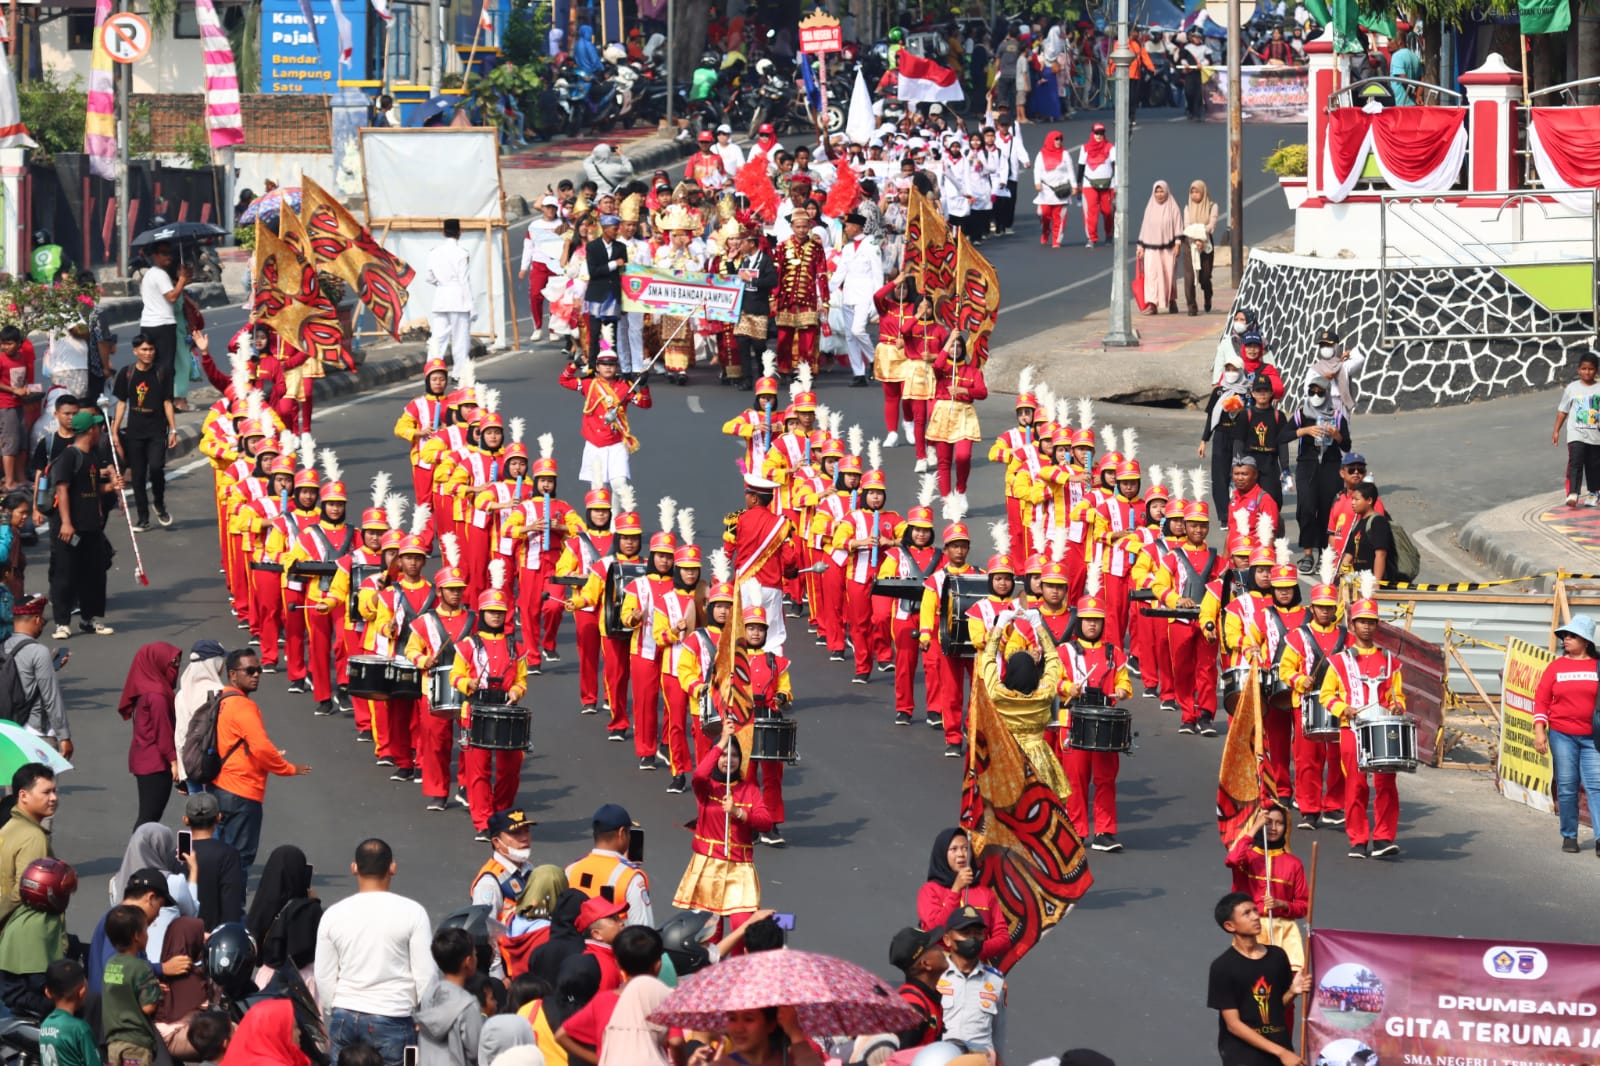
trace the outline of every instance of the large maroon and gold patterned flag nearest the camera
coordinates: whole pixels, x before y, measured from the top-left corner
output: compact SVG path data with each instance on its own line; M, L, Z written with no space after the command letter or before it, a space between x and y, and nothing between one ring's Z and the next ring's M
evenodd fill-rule
M1034 771L981 680L968 707L962 828L973 842L978 884L995 893L1005 914L1011 946L995 967L1006 972L1067 916L1094 876L1066 800Z

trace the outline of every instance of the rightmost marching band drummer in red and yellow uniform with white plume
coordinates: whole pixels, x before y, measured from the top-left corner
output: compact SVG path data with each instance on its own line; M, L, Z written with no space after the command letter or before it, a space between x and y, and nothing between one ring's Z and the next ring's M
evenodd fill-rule
M1350 858L1366 858L1368 840L1373 858L1398 855L1395 831L1400 828L1400 789L1394 773L1366 775L1355 747L1355 725L1362 714L1382 711L1405 712L1405 685L1400 659L1379 648L1378 579L1362 575L1362 599L1350 603L1350 643L1328 658L1322 679L1322 706L1339 720L1339 760L1344 765L1344 834L1350 840ZM1373 783L1368 786L1366 778ZM1368 821L1366 800L1373 794L1374 818Z

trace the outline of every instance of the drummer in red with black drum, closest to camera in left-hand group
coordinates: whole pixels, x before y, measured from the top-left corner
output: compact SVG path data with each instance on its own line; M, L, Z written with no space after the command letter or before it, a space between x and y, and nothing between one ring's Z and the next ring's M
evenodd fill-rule
M504 592L504 563L491 563L491 587L478 597L477 627L456 645L456 664L450 667L450 685L464 696L461 728L469 736L474 706L494 706L501 701L515 706L528 691L528 664L517 648L517 639L506 632L510 599ZM490 815L517 805L523 754L490 751L472 746L470 741L461 754L472 828L477 829L478 840L490 839Z

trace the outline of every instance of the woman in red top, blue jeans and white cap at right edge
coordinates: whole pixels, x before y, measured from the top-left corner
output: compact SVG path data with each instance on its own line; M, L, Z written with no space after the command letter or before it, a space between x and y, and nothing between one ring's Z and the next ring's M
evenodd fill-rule
M1595 621L1589 615L1573 615L1555 635L1563 655L1544 667L1533 696L1533 747L1541 755L1550 752L1562 850L1578 852L1578 781L1584 783L1590 810L1600 802L1600 752L1594 738L1600 655L1595 651ZM1600 831L1595 855L1600 856Z

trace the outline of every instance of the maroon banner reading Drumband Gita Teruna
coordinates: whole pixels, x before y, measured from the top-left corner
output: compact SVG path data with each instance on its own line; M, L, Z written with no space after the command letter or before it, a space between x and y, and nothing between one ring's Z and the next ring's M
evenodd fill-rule
M1318 928L1306 1061L1600 1063L1600 948Z

